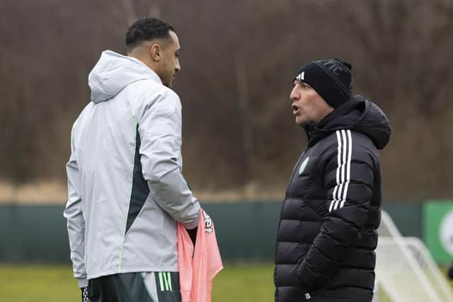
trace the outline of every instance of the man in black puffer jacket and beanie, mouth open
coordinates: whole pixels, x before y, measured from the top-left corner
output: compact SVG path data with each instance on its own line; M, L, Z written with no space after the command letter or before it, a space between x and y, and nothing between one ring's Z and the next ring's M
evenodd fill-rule
M275 301L372 301L381 219L377 149L389 141L389 120L352 96L346 62L311 62L293 84L292 110L308 146L280 214Z

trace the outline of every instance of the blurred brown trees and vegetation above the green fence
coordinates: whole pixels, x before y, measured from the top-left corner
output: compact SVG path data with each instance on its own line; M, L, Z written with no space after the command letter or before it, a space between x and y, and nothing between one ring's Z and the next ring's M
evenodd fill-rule
M354 93L391 121L384 199L453 196L453 1L2 0L0 12L0 199L40 184L22 199L64 203L88 72L103 50L125 54L125 32L144 16L180 38L174 89L197 196L282 198L306 145L290 110L292 79L329 57L352 63Z

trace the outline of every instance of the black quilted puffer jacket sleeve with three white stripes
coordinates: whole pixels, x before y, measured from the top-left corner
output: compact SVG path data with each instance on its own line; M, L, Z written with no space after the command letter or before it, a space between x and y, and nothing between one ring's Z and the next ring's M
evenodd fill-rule
M323 163L328 215L297 274L306 291L325 286L338 270L348 248L361 238L367 221L374 181L372 142L341 130Z

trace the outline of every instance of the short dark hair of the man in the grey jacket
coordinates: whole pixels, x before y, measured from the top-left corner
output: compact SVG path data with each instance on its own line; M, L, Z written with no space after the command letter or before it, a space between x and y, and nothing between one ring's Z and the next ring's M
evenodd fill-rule
M173 26L157 18L141 18L130 26L126 33L127 52L134 49L144 41L153 39L168 39L170 30L175 32Z

